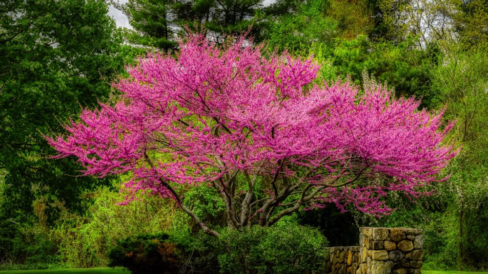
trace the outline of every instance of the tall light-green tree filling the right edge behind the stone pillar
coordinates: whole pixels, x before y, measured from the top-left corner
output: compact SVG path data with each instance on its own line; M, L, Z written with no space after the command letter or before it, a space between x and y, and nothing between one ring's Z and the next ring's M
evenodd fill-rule
M472 45L472 40L465 40ZM442 42L442 41L441 41ZM488 87L487 44L476 46L443 41L443 65L432 71L432 104L447 104L447 116L458 121L452 138L463 144L463 153L447 169L452 172L449 187L442 189L446 207L456 228L458 265L483 267L488 263L485 242L488 231ZM485 42L486 43L486 42ZM466 50L468 48L468 50Z

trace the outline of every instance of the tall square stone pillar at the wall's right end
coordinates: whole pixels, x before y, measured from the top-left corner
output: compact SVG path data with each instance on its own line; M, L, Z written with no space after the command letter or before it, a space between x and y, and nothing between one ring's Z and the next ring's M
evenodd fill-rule
M361 227L361 263L356 274L420 274L421 229Z

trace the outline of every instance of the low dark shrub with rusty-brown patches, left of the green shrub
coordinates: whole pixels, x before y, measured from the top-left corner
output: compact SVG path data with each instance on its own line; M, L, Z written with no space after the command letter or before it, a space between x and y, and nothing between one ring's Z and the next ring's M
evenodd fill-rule
M167 233L127 237L109 251L109 266L123 266L134 274L179 273L188 246L188 241Z

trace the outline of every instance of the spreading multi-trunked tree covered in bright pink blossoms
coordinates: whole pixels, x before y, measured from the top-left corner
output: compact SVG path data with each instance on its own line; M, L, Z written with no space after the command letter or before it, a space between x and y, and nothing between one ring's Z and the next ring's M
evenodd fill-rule
M122 98L83 110L67 136L46 136L76 156L84 175L129 174L124 188L183 204L183 189L210 187L231 228L272 225L300 209L335 203L388 214L388 191L409 197L457 153L443 145L442 113L418 111L382 86L317 83L311 58L267 53L244 36L217 46L202 34L176 56L148 55L113 86ZM169 200L168 200L169 201Z

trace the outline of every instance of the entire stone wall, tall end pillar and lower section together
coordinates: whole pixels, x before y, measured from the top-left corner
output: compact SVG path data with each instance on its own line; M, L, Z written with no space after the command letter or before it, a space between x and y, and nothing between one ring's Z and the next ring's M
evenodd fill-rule
M360 227L359 246L329 247L326 273L421 274L421 229Z

